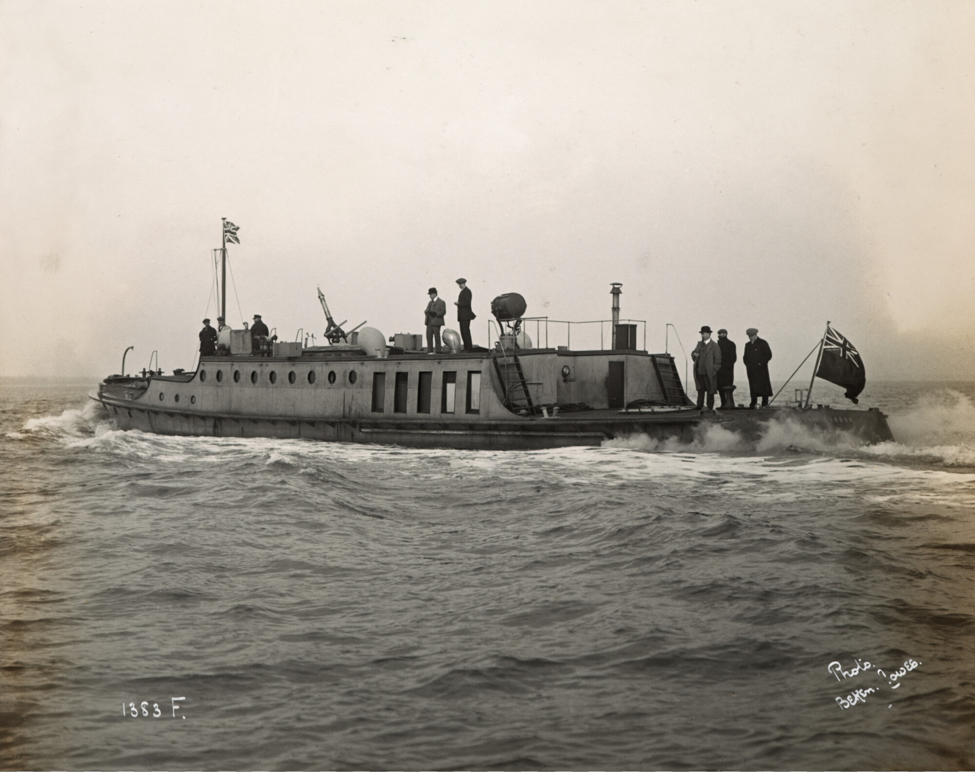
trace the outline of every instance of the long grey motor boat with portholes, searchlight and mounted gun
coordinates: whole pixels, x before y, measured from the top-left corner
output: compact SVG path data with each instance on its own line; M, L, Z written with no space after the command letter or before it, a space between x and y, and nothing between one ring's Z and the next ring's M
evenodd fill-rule
M225 225L224 277L226 232ZM120 429L161 435L535 449L632 438L689 444L716 425L755 439L769 423L791 421L865 444L893 440L877 408L810 405L807 393L766 409L697 408L674 356L645 350L645 322L640 349L642 321L620 320L621 287L611 285L611 319L592 323L609 331L598 349L568 345L571 326L589 323L526 317L525 298L509 292L491 303L487 347L465 351L460 335L445 329L441 352L424 350L413 333L387 339L375 328L344 330L319 289L326 345L223 328L215 354L192 371L127 375L123 356L122 374L90 396ZM548 346L549 330L560 325L568 326L566 345ZM545 345L535 346L528 328Z

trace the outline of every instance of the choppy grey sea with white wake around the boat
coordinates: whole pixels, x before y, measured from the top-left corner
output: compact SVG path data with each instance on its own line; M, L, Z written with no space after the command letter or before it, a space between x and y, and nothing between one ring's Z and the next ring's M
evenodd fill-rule
M91 387L0 390L4 769L975 766L972 384L869 386L889 444L526 452Z

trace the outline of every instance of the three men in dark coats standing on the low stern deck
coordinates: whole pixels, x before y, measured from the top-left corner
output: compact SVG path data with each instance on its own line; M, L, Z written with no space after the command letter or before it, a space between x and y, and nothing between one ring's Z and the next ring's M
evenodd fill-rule
M745 356L742 362L748 370L748 386L751 392L752 404L755 409L761 397L761 406L768 406L768 398L772 396L772 383L768 377L768 361L772 358L772 350L768 343L759 337L759 330L748 328L748 343L745 344ZM694 361L694 385L697 388L697 406L704 407L705 398L708 409L715 408L715 392L722 398L722 408L734 407L734 364L738 361L738 348L728 340L726 329L718 330L718 342L711 339L711 328L707 325L701 328L701 340L690 354Z

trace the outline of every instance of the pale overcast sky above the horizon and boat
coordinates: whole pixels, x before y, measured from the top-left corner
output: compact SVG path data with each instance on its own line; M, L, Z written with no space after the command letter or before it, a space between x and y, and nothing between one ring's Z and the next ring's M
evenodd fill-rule
M192 367L225 216L229 321L283 339L318 286L388 336L463 276L484 344L494 295L622 282L651 351L754 326L784 379L829 319L868 378L975 377L973 41L932 0L5 0L0 374Z

